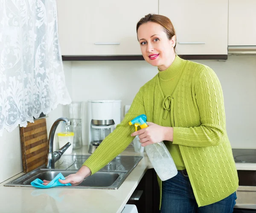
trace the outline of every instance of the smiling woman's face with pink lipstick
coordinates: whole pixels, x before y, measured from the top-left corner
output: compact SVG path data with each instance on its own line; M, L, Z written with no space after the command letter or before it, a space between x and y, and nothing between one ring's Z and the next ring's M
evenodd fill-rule
M154 22L142 24L137 36L143 58L148 63L157 66L160 71L171 65L175 58L175 36L169 40L163 27Z

